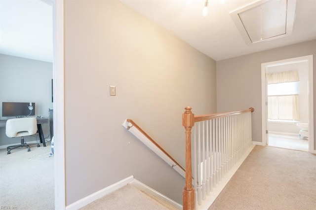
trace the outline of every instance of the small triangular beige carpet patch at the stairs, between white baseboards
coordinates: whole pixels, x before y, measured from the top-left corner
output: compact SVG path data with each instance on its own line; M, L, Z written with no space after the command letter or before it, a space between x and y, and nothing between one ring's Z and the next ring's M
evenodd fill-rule
M106 195L80 210L175 210L172 206L159 201L138 190L131 184Z

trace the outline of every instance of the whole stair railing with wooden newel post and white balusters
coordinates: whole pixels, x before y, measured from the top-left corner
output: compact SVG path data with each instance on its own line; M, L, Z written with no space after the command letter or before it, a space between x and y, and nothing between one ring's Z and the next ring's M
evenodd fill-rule
M184 210L200 209L202 201L253 148L251 112L254 108L199 116L194 116L191 109L185 107L182 115L186 134Z

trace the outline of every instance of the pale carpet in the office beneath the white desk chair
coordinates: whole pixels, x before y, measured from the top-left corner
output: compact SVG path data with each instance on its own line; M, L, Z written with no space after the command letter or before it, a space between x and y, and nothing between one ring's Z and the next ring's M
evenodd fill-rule
M54 158L40 145L0 149L0 209L54 210Z

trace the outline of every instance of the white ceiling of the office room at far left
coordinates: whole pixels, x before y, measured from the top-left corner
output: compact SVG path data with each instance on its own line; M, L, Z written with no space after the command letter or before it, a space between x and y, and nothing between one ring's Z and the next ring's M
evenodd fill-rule
M0 53L52 62L52 11L49 0L0 0Z

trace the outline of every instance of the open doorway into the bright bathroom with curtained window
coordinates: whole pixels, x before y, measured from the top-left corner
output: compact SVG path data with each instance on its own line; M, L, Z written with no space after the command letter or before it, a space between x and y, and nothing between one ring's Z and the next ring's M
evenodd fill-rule
M314 151L313 56L262 64L263 145Z

